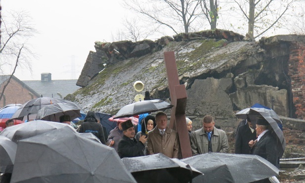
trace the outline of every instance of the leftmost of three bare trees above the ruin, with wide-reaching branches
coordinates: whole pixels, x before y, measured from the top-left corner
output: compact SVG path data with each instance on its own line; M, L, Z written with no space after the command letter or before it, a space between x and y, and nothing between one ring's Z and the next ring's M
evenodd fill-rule
M202 25L201 0L123 0L124 7L139 13L146 21L165 26L178 34ZM181 29L183 28L183 29Z

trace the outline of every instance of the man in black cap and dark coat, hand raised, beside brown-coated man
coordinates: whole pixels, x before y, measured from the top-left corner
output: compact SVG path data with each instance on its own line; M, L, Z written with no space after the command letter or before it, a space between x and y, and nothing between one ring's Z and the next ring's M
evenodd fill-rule
M121 158L144 156L143 149L145 148L146 136L142 136L137 141L135 131L131 120L127 120L121 124L124 136L118 144L118 154Z

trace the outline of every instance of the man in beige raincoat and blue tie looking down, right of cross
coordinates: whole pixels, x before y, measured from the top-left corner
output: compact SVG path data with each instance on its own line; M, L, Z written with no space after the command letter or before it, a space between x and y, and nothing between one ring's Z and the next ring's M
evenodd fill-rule
M203 128L192 133L191 147L193 155L207 152L227 153L229 151L228 138L225 132L214 126L213 117L207 115L203 118Z

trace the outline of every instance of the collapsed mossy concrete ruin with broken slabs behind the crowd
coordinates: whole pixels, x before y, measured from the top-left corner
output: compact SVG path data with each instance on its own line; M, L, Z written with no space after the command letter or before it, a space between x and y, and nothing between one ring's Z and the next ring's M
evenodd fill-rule
M227 132L233 150L239 122L234 114L260 103L280 115L288 146L305 145L304 35L248 42L230 31L210 30L155 42L95 42L95 49L78 80L83 89L69 98L85 110L116 114L140 93L133 89L137 80L152 98L170 102L163 53L174 51L193 130L202 127L205 115L212 115Z

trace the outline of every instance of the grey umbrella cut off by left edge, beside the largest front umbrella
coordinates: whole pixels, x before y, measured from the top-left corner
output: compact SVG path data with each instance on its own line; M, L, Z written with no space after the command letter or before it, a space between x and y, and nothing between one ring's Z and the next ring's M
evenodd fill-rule
M12 173L17 144L9 138L0 136L0 172Z

